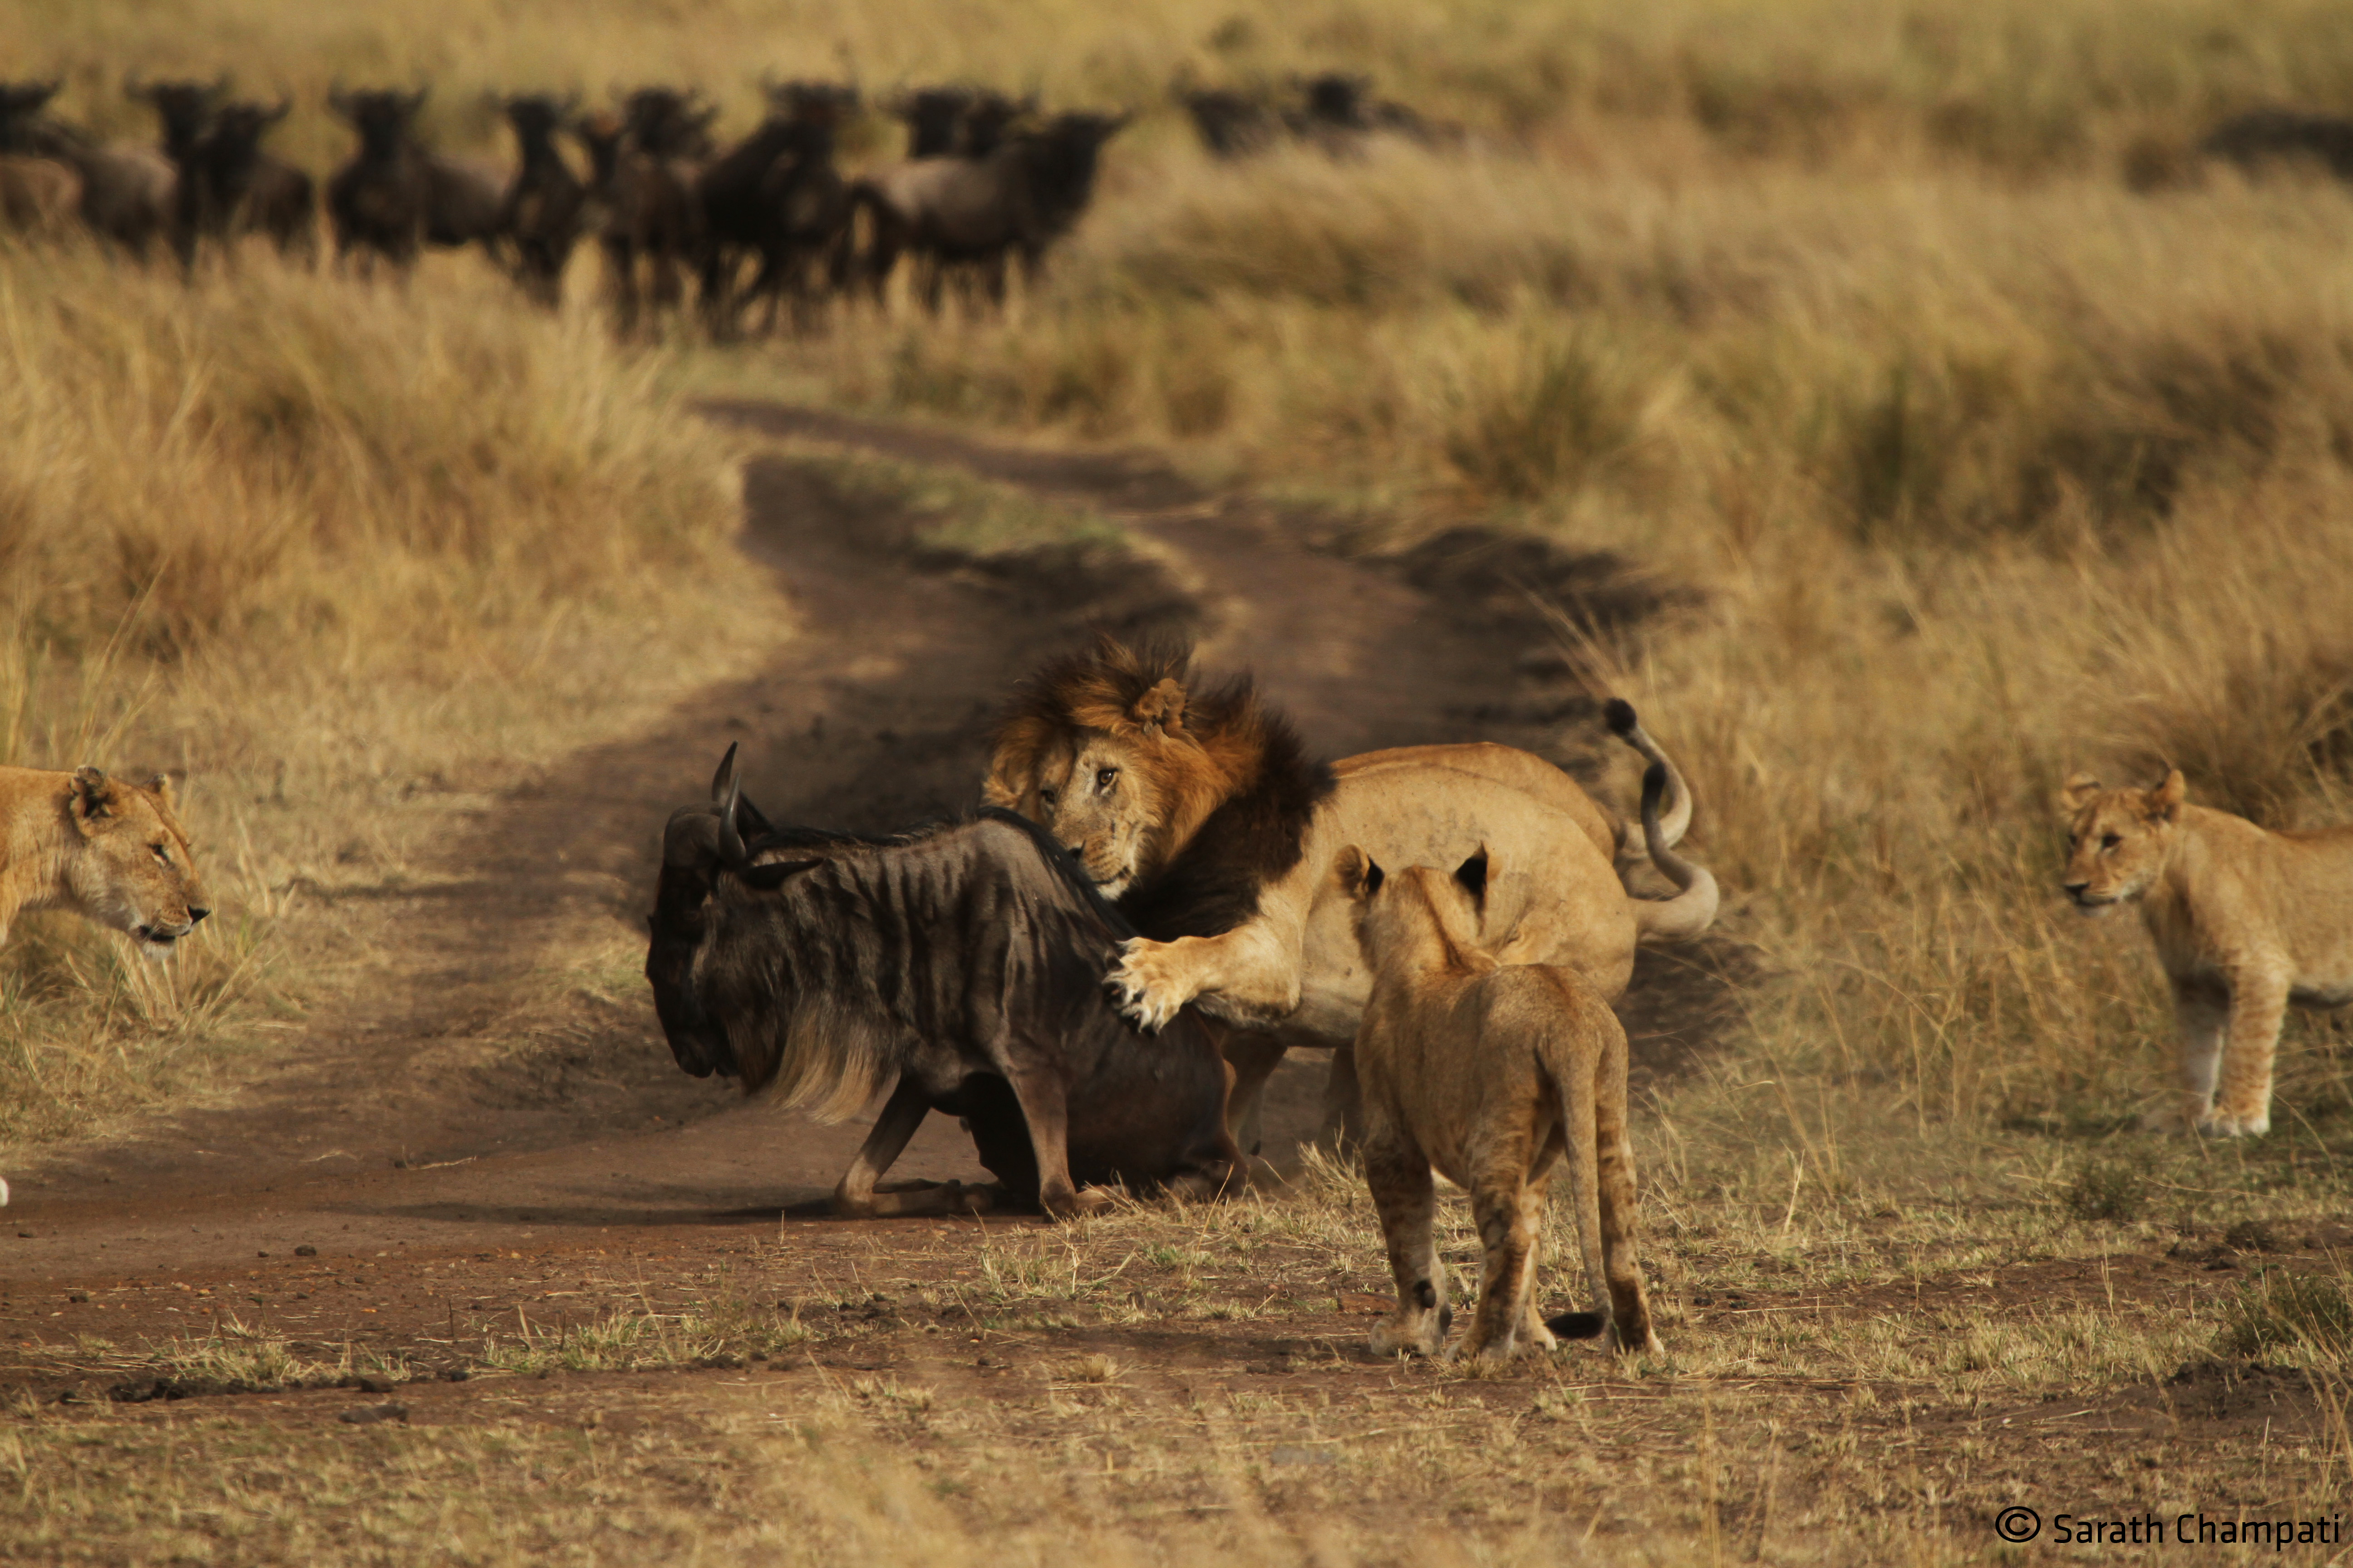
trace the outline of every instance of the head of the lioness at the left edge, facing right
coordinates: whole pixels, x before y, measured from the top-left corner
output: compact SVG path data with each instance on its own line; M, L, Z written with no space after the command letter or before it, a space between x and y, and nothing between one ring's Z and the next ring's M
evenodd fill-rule
M66 891L89 919L127 933L144 954L160 959L212 914L169 778L158 773L134 785L99 769L75 769L66 813L75 832L66 853Z

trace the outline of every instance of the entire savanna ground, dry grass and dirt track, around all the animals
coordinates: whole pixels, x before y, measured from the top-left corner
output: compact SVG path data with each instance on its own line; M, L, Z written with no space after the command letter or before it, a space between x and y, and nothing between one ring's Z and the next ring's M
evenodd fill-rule
M1002 320L616 346L586 261L541 317L473 259L0 256L0 755L186 771L221 907L172 969L0 954L0 1554L2035 1559L1998 1509L2348 1509L2346 1039L2292 1023L2261 1143L2134 1131L2167 1009L2057 907L2049 811L2172 759L2353 816L2353 197L2188 155L2353 110L2341 9L228 0L0 54L139 136L125 71L233 66L318 172L336 78L492 153L487 87L734 129L845 63L1146 110ZM1327 66L1464 141L1217 167L1165 101ZM1617 689L1685 762L1729 898L1628 1001L1664 1359L1369 1361L1318 1159L835 1225L856 1128L671 1070L635 919L718 750L802 820L953 811L1089 623L1334 752L1631 799Z

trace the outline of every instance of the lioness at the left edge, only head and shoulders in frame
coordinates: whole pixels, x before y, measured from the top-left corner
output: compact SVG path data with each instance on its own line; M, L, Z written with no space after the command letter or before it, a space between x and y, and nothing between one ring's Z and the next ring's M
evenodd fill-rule
M78 910L160 959L209 905L162 773L0 769L0 943L19 910Z

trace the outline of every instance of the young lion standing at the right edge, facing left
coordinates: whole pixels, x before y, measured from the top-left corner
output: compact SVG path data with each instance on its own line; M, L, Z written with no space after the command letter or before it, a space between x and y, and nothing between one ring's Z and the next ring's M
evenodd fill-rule
M2271 832L2193 806L2181 769L2155 790L2075 773L2059 806L2066 896L2085 914L2137 898L2172 980L2179 1124L2219 1138L2268 1133L2287 1004L2353 1001L2353 827Z

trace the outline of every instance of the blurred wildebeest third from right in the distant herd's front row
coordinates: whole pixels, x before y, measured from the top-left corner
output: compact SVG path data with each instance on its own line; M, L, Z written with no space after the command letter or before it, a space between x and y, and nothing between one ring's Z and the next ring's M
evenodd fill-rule
M654 308L685 296L680 273L704 254L704 212L694 181L711 155L713 106L671 87L640 87L619 115L591 115L579 125L588 148L588 188L602 209L598 244L605 249L607 282L621 331L638 327L640 282Z

